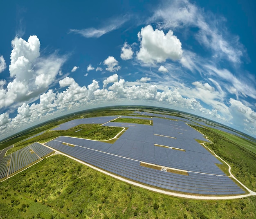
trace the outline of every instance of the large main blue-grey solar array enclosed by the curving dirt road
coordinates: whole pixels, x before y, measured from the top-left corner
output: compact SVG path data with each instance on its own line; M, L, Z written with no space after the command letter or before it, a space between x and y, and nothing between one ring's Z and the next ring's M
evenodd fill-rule
M99 118L94 119L97 121ZM207 142L200 132L184 121L164 117L150 120L153 120L153 125L106 123L106 126L128 127L113 144L66 136L46 144L103 170L159 188L201 195L245 193L216 165L222 163L195 141L200 139ZM90 123L92 121L93 118L88 120ZM141 162L185 171L187 174L148 168L142 166Z

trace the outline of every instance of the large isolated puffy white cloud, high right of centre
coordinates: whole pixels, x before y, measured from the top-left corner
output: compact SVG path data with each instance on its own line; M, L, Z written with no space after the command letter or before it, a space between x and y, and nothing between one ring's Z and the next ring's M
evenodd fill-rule
M162 63L166 59L180 60L182 58L182 47L180 40L169 30L155 29L151 25L141 28L138 33L140 49L137 53L138 60L144 63Z

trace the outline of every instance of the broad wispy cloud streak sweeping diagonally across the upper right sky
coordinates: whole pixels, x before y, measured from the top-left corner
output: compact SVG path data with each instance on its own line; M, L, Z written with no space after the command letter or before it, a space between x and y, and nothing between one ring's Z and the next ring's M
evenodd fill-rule
M245 53L238 36L231 36L225 28L225 18L197 7L188 0L165 1L157 9L150 22L157 20L160 29L197 27L195 38L204 47L212 49L214 57L225 57L233 63L240 63ZM186 29L187 30L187 29Z

